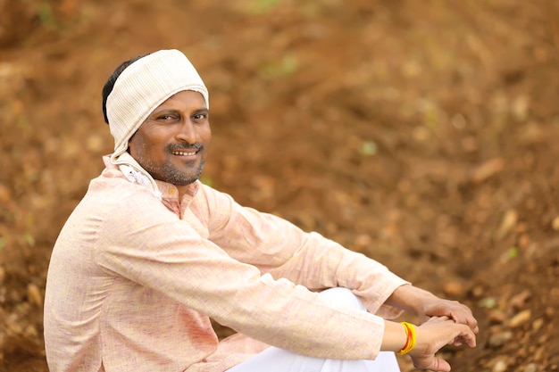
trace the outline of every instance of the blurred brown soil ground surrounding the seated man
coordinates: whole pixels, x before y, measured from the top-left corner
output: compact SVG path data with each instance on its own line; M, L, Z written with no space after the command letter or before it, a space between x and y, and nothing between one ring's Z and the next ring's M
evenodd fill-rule
M455 371L556 370L557 19L552 0L0 0L0 371L47 370L49 255L112 150L101 87L162 48L210 89L206 182L470 305Z

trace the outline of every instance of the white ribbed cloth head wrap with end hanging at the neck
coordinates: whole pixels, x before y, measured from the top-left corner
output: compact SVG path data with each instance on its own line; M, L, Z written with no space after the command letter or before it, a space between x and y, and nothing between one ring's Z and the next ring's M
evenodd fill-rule
M127 153L131 136L144 120L171 95L194 90L204 96L209 108L208 90L188 58L178 50L161 50L131 63L121 72L107 97L106 113L114 137L113 164L130 181L151 186L157 194L154 179Z

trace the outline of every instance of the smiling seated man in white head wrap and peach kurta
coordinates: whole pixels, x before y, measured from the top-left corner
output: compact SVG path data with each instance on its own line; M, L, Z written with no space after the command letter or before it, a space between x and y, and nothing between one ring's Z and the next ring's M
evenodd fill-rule
M393 351L446 371L436 351L475 345L463 304L200 183L209 99L184 54L124 62L103 95L114 153L49 266L52 372L397 371ZM429 320L385 319L403 310Z

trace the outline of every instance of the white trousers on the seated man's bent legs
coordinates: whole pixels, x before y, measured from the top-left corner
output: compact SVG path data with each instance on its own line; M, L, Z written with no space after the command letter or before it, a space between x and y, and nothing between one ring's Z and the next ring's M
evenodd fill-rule
M345 303L366 310L363 302L346 288L330 288L320 293L333 303ZM376 360L325 360L307 357L271 346L228 372L400 372L394 352L380 351Z

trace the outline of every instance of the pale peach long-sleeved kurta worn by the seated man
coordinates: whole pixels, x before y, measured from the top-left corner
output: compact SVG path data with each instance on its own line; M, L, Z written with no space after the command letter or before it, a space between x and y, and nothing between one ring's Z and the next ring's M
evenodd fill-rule
M104 161L54 245L45 300L51 372L218 372L266 344L375 358L379 315L399 314L383 302L403 279L199 182L179 203L176 187L158 181L162 203ZM370 313L331 307L313 292L335 286L352 289ZM219 343L210 318L242 335Z

